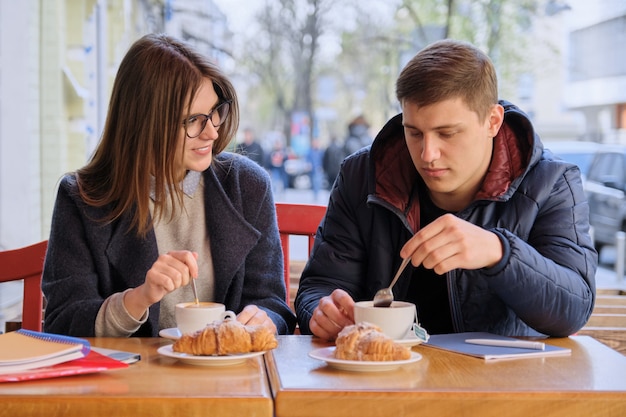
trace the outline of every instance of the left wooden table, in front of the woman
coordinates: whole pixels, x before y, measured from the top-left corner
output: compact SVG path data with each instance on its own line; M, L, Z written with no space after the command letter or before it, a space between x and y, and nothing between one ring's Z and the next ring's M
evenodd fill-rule
M92 338L138 352L126 369L0 384L0 416L267 416L273 400L263 357L227 367L186 365L157 353L161 338Z

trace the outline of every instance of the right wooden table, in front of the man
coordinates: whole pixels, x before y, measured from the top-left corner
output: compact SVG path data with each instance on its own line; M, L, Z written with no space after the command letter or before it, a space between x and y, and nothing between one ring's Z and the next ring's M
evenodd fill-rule
M588 336L548 343L572 354L487 363L415 346L404 368L351 372L308 357L328 343L281 336L266 363L276 417L626 416L626 357Z

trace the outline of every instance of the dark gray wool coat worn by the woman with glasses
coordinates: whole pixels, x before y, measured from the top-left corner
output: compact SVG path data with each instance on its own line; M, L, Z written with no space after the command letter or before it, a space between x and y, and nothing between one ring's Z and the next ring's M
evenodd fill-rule
M285 302L282 249L268 174L248 158L223 152L203 176L214 301L236 313L256 304L280 334L292 333L295 316ZM142 284L156 261L154 231L145 239L128 233L130 215L110 224L97 221L106 210L85 204L74 175L62 178L43 272L44 331L94 336L104 300ZM133 336L158 336L158 323L156 303Z

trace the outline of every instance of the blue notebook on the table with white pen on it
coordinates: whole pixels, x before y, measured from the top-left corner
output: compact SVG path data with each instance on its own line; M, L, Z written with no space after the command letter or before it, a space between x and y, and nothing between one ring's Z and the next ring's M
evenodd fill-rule
M518 339L486 332L465 332L431 335L423 346L449 350L464 355L482 358L486 361L563 356L572 353L571 349L545 344L543 350L523 349L502 346L484 346L467 343L468 339L492 339L515 341Z

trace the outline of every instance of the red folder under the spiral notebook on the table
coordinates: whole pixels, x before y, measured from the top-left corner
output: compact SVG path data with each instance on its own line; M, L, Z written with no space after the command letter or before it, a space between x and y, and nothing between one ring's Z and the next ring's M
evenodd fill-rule
M35 368L13 374L0 374L0 382L31 381L34 379L83 375L122 368L128 368L128 364L91 350L84 358L60 363L58 365Z

